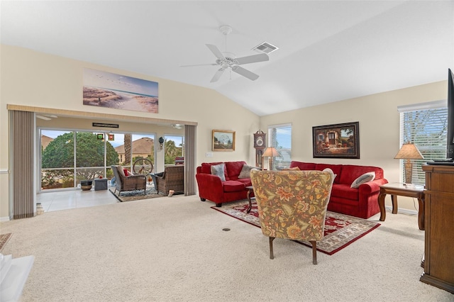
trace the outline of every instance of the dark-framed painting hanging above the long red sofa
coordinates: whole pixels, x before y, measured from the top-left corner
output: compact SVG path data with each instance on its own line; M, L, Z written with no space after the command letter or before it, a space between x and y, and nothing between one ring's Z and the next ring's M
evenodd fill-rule
M359 122L312 127L314 158L360 158Z

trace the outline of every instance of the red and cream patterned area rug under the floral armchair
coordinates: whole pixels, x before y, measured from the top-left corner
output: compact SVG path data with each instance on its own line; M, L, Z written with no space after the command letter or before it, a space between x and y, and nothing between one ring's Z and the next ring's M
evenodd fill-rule
M248 206L248 201L239 201L223 204L221 208L217 208L216 206L212 206L211 208L260 228L257 203L253 201L253 208L250 213L246 213ZM317 242L317 250L328 255L333 255L379 226L380 223L328 211L325 219L325 237L323 237L323 240ZM312 247L310 242L295 242Z

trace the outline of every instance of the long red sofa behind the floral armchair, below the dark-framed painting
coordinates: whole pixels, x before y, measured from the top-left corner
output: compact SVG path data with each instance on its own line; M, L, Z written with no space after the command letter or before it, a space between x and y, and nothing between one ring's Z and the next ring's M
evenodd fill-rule
M372 166L358 166L353 164L316 164L312 162L292 161L290 167L299 167L301 170L323 170L330 168L336 174L328 211L343 213L359 218L370 218L380 213L378 194L380 185L387 184L383 169ZM358 189L350 188L355 179L367 172L375 172L375 179L361 184Z

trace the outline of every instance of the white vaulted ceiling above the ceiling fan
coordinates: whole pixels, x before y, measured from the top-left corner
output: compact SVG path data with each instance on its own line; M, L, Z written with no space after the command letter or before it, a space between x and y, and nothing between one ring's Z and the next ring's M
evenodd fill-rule
M215 89L265 116L447 78L454 1L1 1L1 43ZM223 35L220 26L231 26ZM270 60L210 82L205 44Z

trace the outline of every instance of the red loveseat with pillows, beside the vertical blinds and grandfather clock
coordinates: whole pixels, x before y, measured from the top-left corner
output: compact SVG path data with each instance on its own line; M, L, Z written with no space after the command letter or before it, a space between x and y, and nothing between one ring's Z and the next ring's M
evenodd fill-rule
M238 176L246 162L224 162L224 177L226 181L221 181L219 177L211 174L211 166L222 164L222 162L203 162L196 169L196 180L199 186L199 196L201 201L214 201L217 207L229 201L245 199L248 194L246 186L252 186L250 178L238 179ZM253 194L251 194L251 197Z

